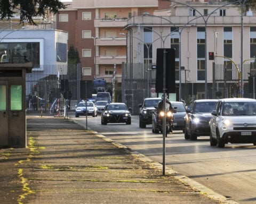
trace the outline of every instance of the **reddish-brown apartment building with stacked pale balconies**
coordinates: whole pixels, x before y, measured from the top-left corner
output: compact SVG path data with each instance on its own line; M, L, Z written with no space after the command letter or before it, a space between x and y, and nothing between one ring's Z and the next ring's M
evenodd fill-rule
M56 27L68 31L68 47L77 48L81 58L81 80L104 78L112 86L113 75L121 83L122 62L126 62L127 20L144 12L153 14L158 0L73 0L68 8L60 11ZM164 5L170 2L164 2Z

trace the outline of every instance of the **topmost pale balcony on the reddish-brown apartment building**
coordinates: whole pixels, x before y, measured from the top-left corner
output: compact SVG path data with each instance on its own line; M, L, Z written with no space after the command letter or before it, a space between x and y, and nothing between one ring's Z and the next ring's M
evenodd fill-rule
M115 19L95 19L95 27L124 27L127 24L127 18Z

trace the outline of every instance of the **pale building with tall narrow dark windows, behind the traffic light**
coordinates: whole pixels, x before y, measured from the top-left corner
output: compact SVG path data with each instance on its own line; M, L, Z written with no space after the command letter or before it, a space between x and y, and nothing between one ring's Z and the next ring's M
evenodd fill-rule
M255 75L256 16L250 8L243 18L241 14L241 7L229 2L177 1L153 15L132 16L125 26L132 36L127 38L127 58L156 63L157 48L175 48L178 98L251 97L248 73Z

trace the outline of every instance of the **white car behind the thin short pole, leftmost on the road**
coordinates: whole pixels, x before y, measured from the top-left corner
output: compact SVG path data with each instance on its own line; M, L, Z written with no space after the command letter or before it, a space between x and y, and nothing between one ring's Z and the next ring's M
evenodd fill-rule
M92 115L92 117L97 117L97 107L94 105L93 102L87 101L81 101L77 106L76 106L76 112L75 116L85 116L87 115Z

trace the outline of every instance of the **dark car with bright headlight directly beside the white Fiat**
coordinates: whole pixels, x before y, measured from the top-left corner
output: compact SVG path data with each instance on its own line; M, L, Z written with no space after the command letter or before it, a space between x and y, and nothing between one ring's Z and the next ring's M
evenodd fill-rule
M186 109L185 139L197 140L198 136L210 135L209 121L217 102L218 99L198 99Z

